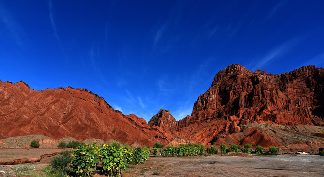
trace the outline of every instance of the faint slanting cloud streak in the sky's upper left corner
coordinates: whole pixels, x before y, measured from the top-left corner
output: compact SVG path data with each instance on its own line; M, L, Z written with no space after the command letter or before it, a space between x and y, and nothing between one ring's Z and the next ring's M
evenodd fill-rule
M22 48L23 43L21 40L22 28L14 20L10 11L8 11L2 3L0 3L0 20L9 31L9 35L15 40L17 45Z

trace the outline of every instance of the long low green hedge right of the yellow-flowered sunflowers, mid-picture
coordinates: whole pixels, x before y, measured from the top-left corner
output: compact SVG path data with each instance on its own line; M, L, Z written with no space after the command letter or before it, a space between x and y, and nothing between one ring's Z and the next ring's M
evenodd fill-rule
M160 149L162 157L173 156L195 156L202 155L205 152L205 145L202 144L180 144L179 146L169 145L166 148Z

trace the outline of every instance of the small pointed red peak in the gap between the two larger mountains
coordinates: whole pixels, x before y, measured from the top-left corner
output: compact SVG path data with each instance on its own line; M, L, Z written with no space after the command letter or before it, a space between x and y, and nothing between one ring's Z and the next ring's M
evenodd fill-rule
M160 111L151 118L148 125L158 126L165 131L174 132L177 121L170 114L169 110L160 109Z

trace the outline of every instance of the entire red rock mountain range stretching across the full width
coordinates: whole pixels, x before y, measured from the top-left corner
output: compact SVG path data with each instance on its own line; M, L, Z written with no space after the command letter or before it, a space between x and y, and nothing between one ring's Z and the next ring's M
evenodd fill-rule
M35 91L22 81L0 81L0 139L39 134L130 145L201 142L309 148L324 146L323 126L324 69L315 66L274 75L229 65L198 97L190 116L176 121L169 110L161 109L148 123L134 114L123 115L86 89Z

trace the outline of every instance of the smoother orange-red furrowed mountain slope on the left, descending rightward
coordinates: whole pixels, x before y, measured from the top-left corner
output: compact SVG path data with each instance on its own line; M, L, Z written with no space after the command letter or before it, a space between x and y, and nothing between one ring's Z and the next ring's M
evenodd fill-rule
M0 139L39 134L55 139L73 137L119 140L153 145L173 136L149 126L136 115L123 115L86 89L35 91L24 82L0 81Z

